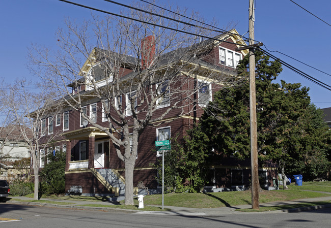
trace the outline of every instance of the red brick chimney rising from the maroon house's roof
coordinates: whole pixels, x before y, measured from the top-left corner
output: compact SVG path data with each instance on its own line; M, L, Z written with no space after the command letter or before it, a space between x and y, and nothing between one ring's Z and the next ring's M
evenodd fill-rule
M149 36L142 39L142 69L149 69L154 62L155 38Z

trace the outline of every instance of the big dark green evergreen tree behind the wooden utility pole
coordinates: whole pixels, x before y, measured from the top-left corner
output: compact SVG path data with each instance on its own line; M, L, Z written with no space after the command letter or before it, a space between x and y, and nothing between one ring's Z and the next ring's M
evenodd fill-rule
M321 112L311 104L309 88L299 83L273 83L282 72L278 61L255 53L258 153L260 165L272 160L279 172L313 178L326 171L330 132ZM248 56L238 65L238 77L248 79ZM221 89L201 118L203 131L218 153L250 156L249 81ZM321 161L323 163L321 163ZM321 167L323 164L323 167ZM321 169L323 168L323 169ZM314 171L314 172L312 172ZM297 172L297 173L294 173Z

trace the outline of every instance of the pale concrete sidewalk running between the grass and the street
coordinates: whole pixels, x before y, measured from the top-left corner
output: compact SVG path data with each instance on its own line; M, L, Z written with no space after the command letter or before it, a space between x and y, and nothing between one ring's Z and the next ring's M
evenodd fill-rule
M86 210L102 210L102 211L126 211L128 213L137 213L137 214L150 214L150 215L182 215L182 216L212 216L212 215L224 215L224 214L233 214L233 213L243 213L235 211L238 208L251 208L251 205L238 205L234 207L220 207L220 208L183 208L183 207L172 207L172 206L164 206L164 209L171 209L170 211L137 211L137 210L127 210L127 209L119 209L119 208L106 208L101 207L101 205L114 205L114 202L89 202L89 201L76 201L76 200L59 200L59 199L46 199L42 198L40 200L47 200L53 202L66 202L72 203L67 205L59 205L52 203L42 203L42 202L20 202L15 201L15 199L20 200L32 200L27 197L10 197L11 200L9 203L20 204L20 205L32 205L32 206L41 206L41 207L57 207L57 208L71 208L71 209L86 209ZM290 205L297 203L307 203L307 202L317 202L317 201L329 201L330 197L321 197L321 198L312 198L312 199L300 199L295 201L286 201L286 202L272 202L272 203L263 203L260 204L260 207L266 206L280 206L280 205ZM94 204L100 205L100 207L87 207L82 206L86 204ZM305 210L313 210L318 208L327 208L331 207L331 204L313 206L313 207L302 207L302 208L294 208L289 210L278 210L278 211L270 211L270 212L260 212L260 213L281 213L281 212L300 212Z

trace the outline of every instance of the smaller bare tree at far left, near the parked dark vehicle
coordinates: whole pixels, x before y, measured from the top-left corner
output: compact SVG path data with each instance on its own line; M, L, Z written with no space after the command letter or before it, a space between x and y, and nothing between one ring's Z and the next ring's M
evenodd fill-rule
M52 132L44 137L47 130L45 118L54 116L59 110L59 102L54 103L54 95L47 90L35 89L31 91L31 83L25 80L17 81L7 94L7 110L15 121L20 138L27 144L33 161L35 179L34 199L38 200L40 161L45 159L41 150L45 150L47 143L51 142L59 133ZM36 85L33 85L36 87Z

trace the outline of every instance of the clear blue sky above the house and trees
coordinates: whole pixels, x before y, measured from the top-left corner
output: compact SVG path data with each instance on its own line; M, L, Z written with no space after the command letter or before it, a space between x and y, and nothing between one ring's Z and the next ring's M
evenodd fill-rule
M72 0L113 13L120 7L102 0ZM118 0L130 4L130 0ZM319 18L331 24L331 1L294 0ZM58 27L63 27L65 17L77 21L90 18L90 10L72 6L58 0L2 0L0 13L0 78L11 83L16 78L31 78L26 69L27 48L31 44L55 47ZM239 34L248 31L249 0L157 0L156 4L179 4L188 11L197 11L210 22L218 21L220 28L229 22L236 24ZM248 36L246 36L248 37ZM263 42L270 51L280 51L320 71L331 74L331 26L302 10L289 0L256 1L255 40ZM279 53L274 55L299 70L331 85L331 76L318 72ZM283 67L279 77L286 82L299 82L310 87L312 102L320 108L331 107L331 91L322 88Z

